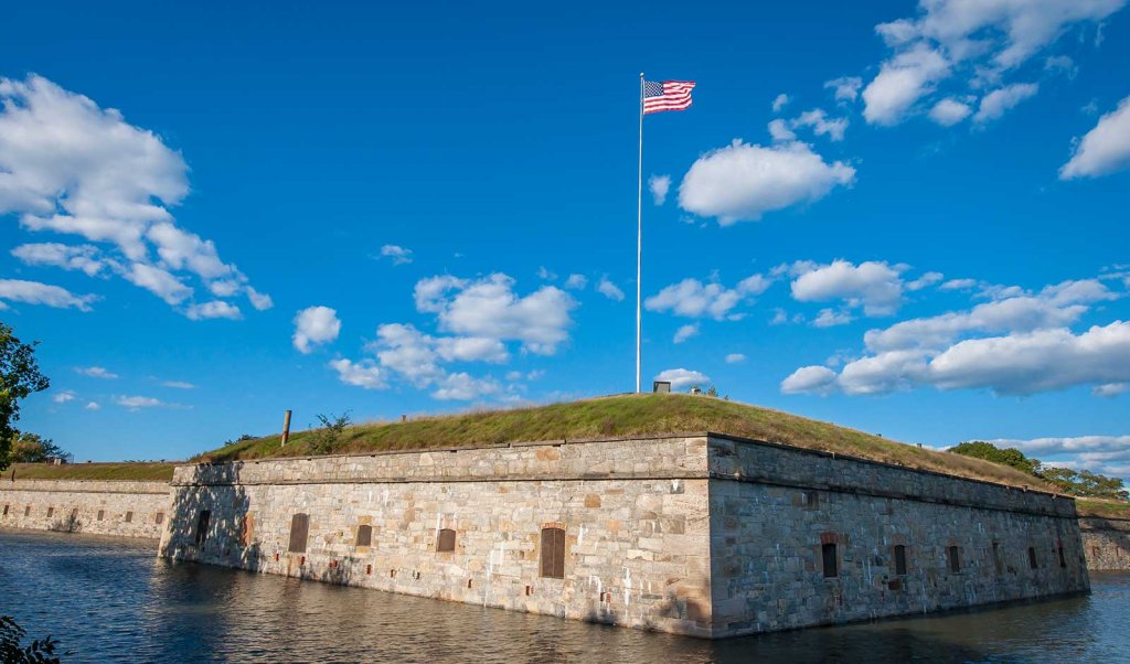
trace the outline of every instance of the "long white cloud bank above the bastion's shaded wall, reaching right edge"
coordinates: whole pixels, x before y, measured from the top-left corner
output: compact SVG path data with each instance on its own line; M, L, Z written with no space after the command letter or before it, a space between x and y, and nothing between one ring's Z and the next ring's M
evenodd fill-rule
M847 362L837 376L803 367L782 383L806 391L817 373L817 388L847 394L879 394L930 385L939 390L989 388L999 394L1033 394L1076 385L1107 387L1130 382L1130 323L1115 321L1075 333L1075 323L1097 303L1118 297L1093 279L1048 286L1036 295L1017 294L968 312L914 318L871 330L871 355ZM973 337L990 334L989 337ZM993 335L994 334L994 335ZM964 339L963 339L964 338Z

